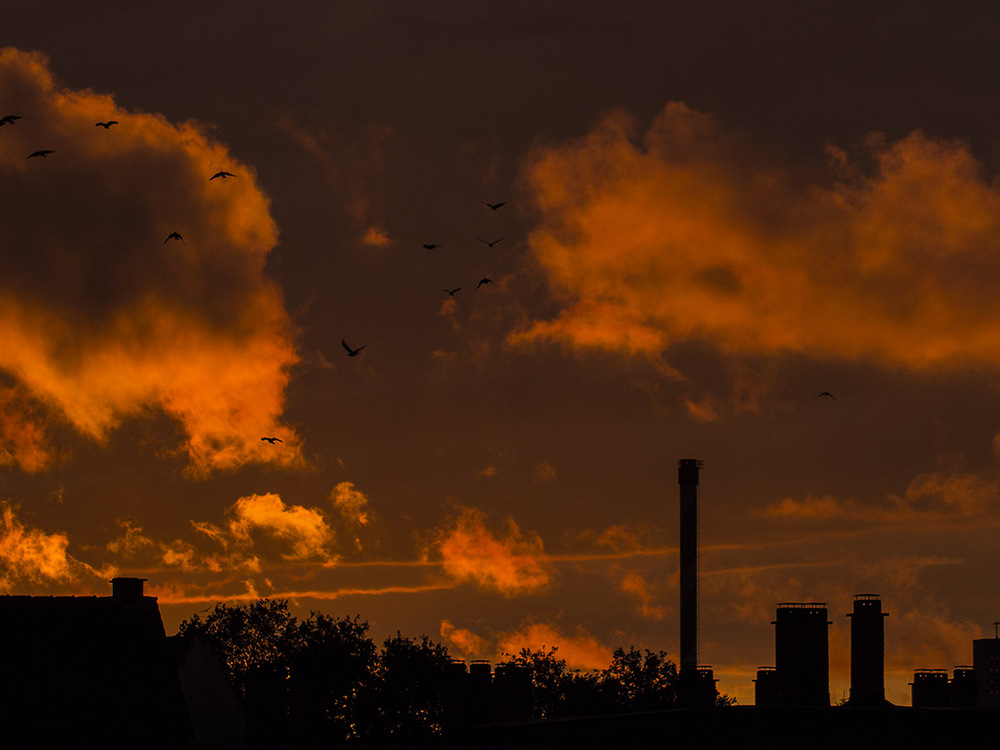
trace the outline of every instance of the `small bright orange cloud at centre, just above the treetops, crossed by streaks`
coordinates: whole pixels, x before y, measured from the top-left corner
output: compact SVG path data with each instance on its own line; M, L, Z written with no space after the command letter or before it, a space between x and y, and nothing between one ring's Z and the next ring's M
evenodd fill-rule
M455 580L507 597L538 593L551 581L537 534L522 534L512 519L504 533L494 534L482 511L474 508L463 509L450 528L438 530L425 555L439 557L444 572Z

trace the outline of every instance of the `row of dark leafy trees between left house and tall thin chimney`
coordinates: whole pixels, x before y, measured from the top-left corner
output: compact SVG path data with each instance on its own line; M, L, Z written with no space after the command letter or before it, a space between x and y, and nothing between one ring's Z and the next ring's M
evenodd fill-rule
M181 623L181 639L206 638L222 658L264 744L425 745L461 741L478 721L556 719L677 705L678 674L666 652L618 648L603 671L568 671L558 648L505 654L492 685L427 636L397 631L378 649L358 616L312 612L299 621L282 599L217 604ZM735 701L720 696L718 705Z

